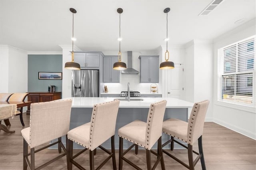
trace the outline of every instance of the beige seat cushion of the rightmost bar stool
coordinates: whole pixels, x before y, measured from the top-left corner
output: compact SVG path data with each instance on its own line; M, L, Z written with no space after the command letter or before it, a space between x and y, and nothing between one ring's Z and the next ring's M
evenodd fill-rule
M163 122L163 132L180 140L188 141L188 123L178 119L168 119Z

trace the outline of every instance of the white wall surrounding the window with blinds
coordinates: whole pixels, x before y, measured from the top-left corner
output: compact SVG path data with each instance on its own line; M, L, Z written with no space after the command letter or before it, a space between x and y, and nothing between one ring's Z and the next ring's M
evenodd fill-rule
M231 43L240 41L256 34L255 19L242 26L214 39L214 88L213 88L213 117L214 122L244 134L250 138L256 139L256 113L254 111L243 111L241 109L232 109L228 105L219 105L218 103L218 53L217 50ZM255 82L255 81L254 81ZM232 106L231 106L232 107ZM253 113L254 112L254 113Z

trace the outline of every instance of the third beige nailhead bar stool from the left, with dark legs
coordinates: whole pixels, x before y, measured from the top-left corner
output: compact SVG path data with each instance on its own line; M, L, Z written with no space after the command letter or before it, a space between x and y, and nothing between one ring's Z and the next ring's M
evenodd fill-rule
M138 154L138 146L146 149L147 169L155 169L161 162L162 170L164 167L164 158L162 153L162 123L166 107L166 100L153 103L148 111L147 123L143 121L133 121L118 130L119 136L119 170L122 170L123 160L136 169L141 169L124 157L124 155L135 146L135 153ZM123 152L123 139L133 142L125 152ZM151 150L152 146L158 141L157 153ZM150 152L157 156L156 163L151 168Z

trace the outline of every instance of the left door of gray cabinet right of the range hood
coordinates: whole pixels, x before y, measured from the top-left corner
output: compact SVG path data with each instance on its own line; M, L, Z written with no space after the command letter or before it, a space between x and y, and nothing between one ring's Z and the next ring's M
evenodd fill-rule
M140 59L140 83L150 82L150 58L142 57Z

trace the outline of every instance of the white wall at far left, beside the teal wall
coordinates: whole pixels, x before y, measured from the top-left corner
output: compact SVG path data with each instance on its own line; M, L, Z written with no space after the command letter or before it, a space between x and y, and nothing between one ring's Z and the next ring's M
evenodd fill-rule
M28 53L21 49L0 47L0 92L25 93L28 91ZM2 63L3 62L3 63Z

